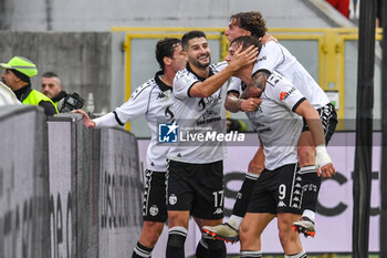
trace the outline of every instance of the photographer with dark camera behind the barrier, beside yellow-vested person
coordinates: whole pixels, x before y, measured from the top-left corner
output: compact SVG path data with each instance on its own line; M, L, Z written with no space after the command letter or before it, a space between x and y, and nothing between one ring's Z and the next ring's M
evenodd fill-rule
M54 72L45 72L42 76L41 92L50 97L60 113L69 113L82 109L85 101L77 94L69 94L62 90L61 80Z

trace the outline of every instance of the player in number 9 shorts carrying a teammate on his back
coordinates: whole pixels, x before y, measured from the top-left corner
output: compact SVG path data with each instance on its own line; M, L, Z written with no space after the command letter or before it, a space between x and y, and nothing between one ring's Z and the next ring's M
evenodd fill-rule
M237 38L230 45L229 55L240 47L260 45L252 37ZM253 186L247 214L239 228L240 257L262 257L260 236L266 225L278 217L280 241L285 258L304 258L300 236L292 224L302 214L303 186L297 172L297 142L304 126L308 125L315 146L325 146L325 136L317 111L305 96L287 80L272 72L262 81L251 75L253 65L239 71L239 76L249 87L260 94L261 103L255 112L247 113L258 132L263 151L264 166ZM325 173L333 174L334 166L326 149L317 152L317 165Z

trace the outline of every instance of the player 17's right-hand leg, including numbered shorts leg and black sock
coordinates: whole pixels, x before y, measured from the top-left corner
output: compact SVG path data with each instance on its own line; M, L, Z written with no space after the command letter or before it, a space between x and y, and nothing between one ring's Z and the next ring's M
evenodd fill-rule
M223 219L223 164L215 162L201 164L195 171L196 180L192 180L195 199L191 214L196 218L199 228L203 226L221 225ZM203 180L206 178L206 180ZM198 258L224 258L226 245L202 235L198 242L196 257Z

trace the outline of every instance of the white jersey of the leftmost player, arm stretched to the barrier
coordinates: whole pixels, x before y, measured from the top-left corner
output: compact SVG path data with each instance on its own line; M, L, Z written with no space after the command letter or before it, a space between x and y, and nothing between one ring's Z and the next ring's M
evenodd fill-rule
M102 117L95 118L96 127L124 125L139 115L145 115L151 132L150 143L147 149L147 169L166 172L167 153L169 144L158 142L158 124L172 123L172 93L171 87L161 80L161 72L154 79L138 86L130 99Z

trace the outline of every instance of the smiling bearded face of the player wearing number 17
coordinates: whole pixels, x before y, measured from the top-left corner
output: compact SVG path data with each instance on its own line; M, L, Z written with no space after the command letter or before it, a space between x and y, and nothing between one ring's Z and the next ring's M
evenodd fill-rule
M211 51L206 38L194 38L188 41L188 62L197 68L208 68L211 63Z

